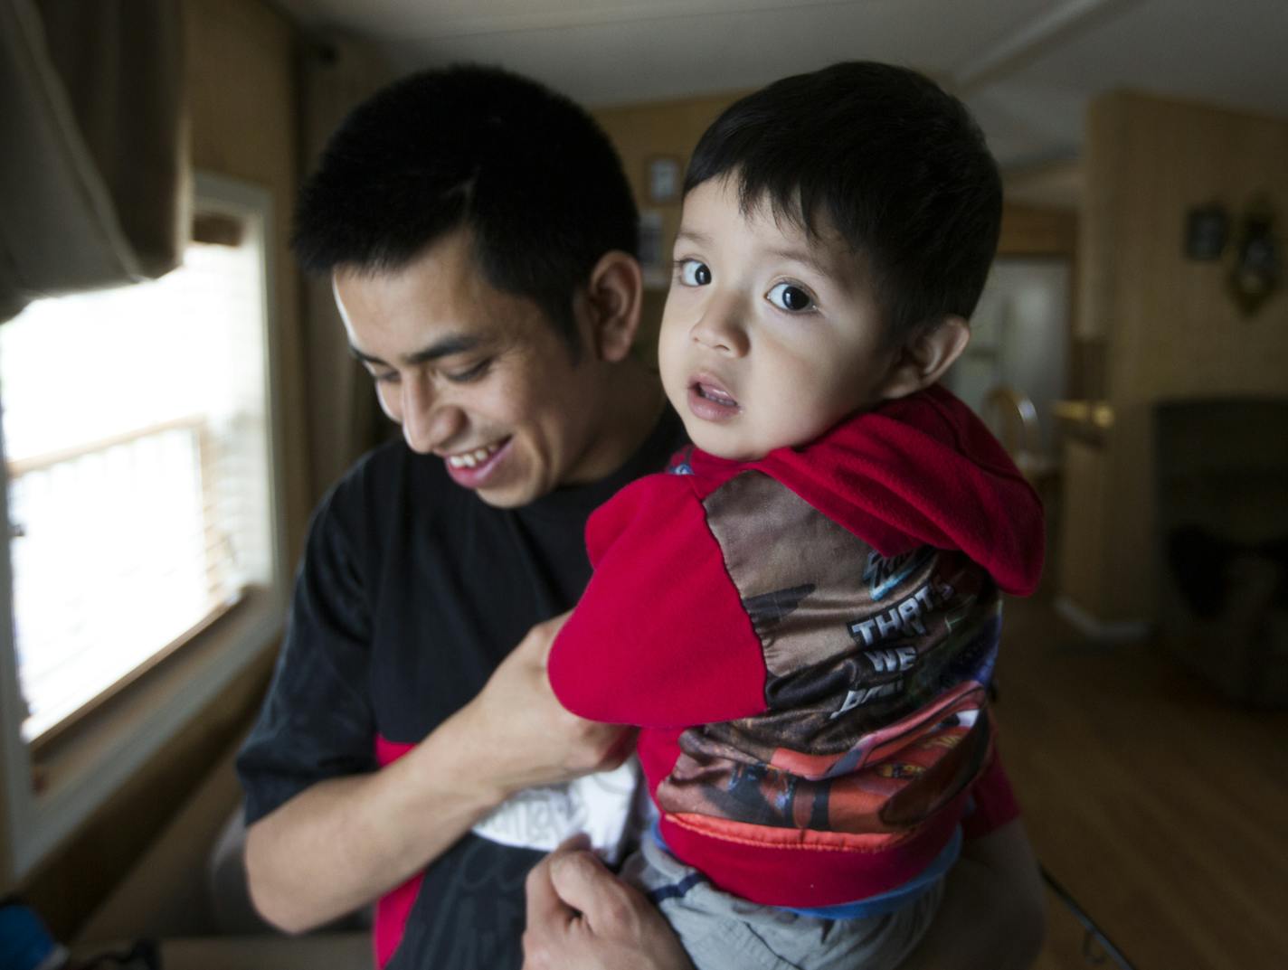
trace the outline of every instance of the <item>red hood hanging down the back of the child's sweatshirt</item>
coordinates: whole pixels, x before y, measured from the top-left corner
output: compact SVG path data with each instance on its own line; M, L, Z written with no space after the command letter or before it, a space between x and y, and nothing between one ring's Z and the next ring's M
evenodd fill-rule
M804 448L738 464L694 449L698 475L755 468L882 556L960 549L1007 593L1042 574L1042 503L984 423L933 386L838 425Z

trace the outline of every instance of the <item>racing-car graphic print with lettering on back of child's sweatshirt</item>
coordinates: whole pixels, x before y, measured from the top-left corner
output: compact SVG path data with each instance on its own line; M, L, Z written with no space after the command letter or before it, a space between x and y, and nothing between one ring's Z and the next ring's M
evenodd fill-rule
M884 558L755 471L703 506L764 650L768 710L685 731L659 807L712 835L880 835L965 790L990 745L988 574L930 547Z

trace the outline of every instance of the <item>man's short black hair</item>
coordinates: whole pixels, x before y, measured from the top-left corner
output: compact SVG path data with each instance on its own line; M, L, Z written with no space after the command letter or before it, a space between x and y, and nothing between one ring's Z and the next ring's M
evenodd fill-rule
M411 75L358 105L300 189L291 244L326 274L402 269L457 229L484 279L533 300L576 352L573 295L611 250L635 253L621 160L568 98L501 71Z

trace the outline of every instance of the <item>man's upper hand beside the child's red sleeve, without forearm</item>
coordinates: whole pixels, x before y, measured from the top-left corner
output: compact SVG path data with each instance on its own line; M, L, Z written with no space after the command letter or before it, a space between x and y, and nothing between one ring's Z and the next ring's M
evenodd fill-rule
M567 619L563 614L533 627L453 718L464 722L457 736L478 742L477 771L495 786L497 801L536 785L616 768L632 749L634 732L569 714L550 690L546 657Z

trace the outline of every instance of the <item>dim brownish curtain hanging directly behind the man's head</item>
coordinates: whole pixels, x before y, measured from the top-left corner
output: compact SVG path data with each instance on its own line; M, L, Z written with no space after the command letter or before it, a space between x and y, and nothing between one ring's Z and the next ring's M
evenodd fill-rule
M305 45L301 75L303 157L312 171L345 114L394 72L371 45L331 35ZM371 378L349 352L330 280L310 279L305 286L304 340L309 481L317 500L392 425L376 405Z

